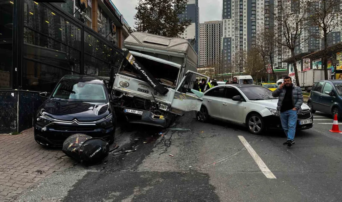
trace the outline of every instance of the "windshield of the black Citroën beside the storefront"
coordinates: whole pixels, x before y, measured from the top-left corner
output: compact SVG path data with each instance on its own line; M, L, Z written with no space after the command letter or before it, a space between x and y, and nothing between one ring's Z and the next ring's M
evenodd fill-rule
M104 85L73 80L62 81L56 87L51 98L68 101L107 103Z

